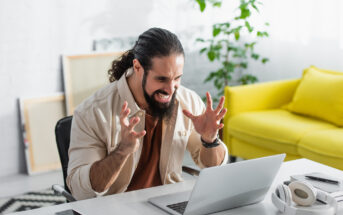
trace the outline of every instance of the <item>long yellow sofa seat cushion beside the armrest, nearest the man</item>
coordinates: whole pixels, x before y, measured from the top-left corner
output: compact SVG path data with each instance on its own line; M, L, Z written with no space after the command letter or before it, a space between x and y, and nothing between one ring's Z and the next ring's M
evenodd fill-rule
M334 128L337 127L325 121L274 109L232 116L225 132L250 144L296 155L297 143L302 136Z

